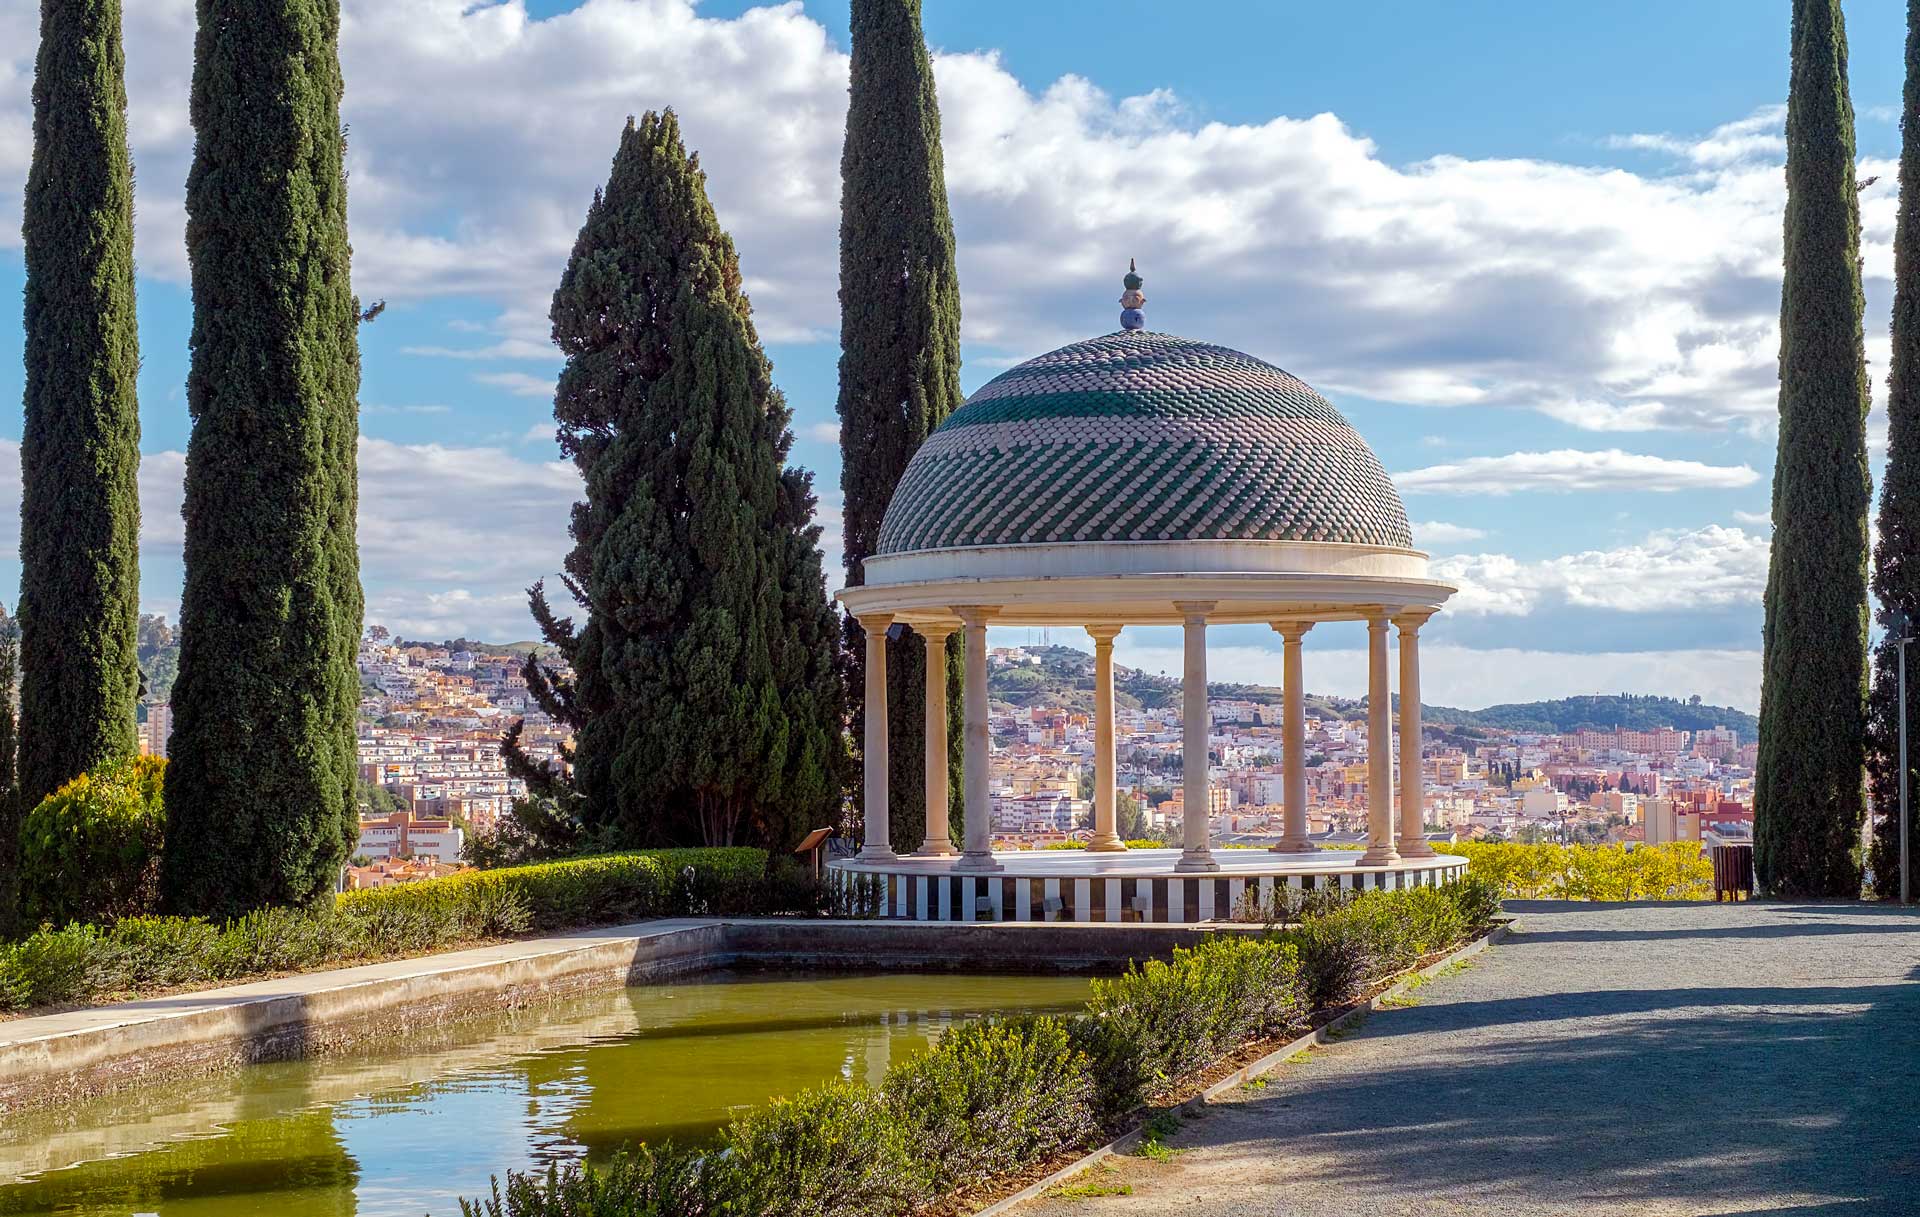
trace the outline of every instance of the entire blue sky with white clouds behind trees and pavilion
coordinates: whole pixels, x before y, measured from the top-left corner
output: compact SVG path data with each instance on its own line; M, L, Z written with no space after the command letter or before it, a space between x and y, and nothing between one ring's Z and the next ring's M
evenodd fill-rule
M33 13L6 8L12 294ZM1415 541L1463 587L1430 628L1430 701L1757 703L1786 0L927 8L970 392L1114 328L1139 257L1154 328L1309 380L1400 478ZM1876 392L1903 8L1847 6L1862 175L1884 175L1862 196ZM369 620L530 632L520 589L559 566L576 488L551 443L545 298L620 123L668 104L739 242L837 559L845 40L845 2L348 0L355 284L390 301L363 330ZM129 6L142 574L146 605L169 614L190 44L190 0ZM19 342L0 326L0 399L19 399ZM0 445L17 434L17 415L0 418ZM8 451L0 537L15 530ZM0 589L15 582L6 545ZM1361 691L1359 647L1357 630L1317 633L1309 683ZM1119 645L1167 670L1175 649L1152 630ZM1277 651L1258 630L1221 632L1215 670L1277 680Z

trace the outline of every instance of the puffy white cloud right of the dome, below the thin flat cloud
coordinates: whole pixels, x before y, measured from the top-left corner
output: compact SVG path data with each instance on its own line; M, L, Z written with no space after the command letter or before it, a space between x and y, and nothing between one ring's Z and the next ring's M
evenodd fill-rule
M1766 589L1766 555L1763 536L1711 524L1534 562L1503 553L1436 559L1432 576L1459 587L1448 601L1448 612L1457 614L1519 616L1557 607L1699 610L1757 605Z

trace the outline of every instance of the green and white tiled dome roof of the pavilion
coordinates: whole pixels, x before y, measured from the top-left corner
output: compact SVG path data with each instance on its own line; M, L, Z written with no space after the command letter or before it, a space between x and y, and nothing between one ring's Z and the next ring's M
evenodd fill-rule
M914 455L881 555L1062 541L1411 549L1379 457L1271 363L1119 330L996 376Z

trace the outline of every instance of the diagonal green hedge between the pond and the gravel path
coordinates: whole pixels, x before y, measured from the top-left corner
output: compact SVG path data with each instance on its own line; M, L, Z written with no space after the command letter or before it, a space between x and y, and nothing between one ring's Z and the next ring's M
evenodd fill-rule
M837 1079L741 1115L716 1146L507 1173L467 1217L891 1217L1083 1148L1219 1058L1482 929L1500 891L1367 893L1096 981L1075 1017L958 1025L877 1086ZM1334 966L1332 960L1340 964ZM1315 981L1336 977L1338 985Z

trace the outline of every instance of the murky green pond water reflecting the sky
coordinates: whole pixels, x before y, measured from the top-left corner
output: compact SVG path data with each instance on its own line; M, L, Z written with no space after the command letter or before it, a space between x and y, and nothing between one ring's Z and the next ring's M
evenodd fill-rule
M0 1215L457 1213L509 1167L712 1136L1081 977L712 973L0 1121Z

